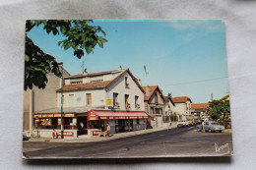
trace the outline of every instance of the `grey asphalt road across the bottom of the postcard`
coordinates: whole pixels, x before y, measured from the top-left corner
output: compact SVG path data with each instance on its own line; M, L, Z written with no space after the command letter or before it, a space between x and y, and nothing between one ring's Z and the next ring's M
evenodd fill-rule
M230 132L176 128L106 142L24 142L28 158L116 158L219 156L232 153Z

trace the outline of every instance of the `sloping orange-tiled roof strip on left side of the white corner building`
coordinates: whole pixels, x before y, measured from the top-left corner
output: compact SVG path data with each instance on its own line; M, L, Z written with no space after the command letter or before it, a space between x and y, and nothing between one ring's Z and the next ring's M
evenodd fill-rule
M64 85L63 91L68 90L79 90L85 88L93 88L93 87L105 87L106 85L110 84L112 81L105 81L105 82L96 82L96 83L88 83L88 84L75 84L75 85ZM57 91L61 91L61 88L57 89Z

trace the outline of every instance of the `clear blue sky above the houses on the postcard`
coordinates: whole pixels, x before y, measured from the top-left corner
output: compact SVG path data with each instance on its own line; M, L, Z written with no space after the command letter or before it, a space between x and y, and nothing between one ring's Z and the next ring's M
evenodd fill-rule
M129 68L142 85L159 85L164 95L188 96L193 103L228 94L225 27L221 20L95 20L107 42L82 59L58 46L62 35L32 28L28 36L71 74ZM148 74L146 75L144 66Z

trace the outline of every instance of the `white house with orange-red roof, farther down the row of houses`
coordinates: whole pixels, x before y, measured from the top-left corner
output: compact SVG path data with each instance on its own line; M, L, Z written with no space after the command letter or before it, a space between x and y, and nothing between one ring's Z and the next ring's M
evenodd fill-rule
M175 103L174 112L177 114L178 120L188 120L192 118L190 108L192 100L188 96L173 97Z

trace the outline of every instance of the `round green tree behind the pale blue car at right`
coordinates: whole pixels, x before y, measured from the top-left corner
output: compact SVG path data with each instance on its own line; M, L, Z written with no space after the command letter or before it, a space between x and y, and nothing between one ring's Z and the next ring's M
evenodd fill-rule
M230 106L229 100L219 101L213 100L210 102L209 107L207 108L208 114L212 117L212 119L219 119L221 116L229 117L230 115Z

